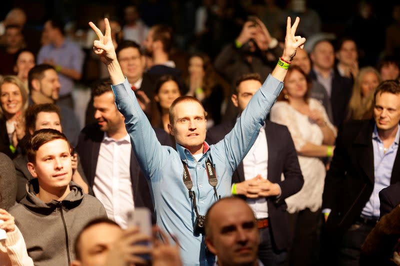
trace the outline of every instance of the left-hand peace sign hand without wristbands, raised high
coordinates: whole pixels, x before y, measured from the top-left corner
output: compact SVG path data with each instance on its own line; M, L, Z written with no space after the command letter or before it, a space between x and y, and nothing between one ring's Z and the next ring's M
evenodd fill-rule
M103 35L101 30L94 25L93 22L89 22L89 26L94 30L98 36L98 40L93 42L94 53L98 54L100 60L105 64L110 64L113 60L116 60L115 48L112 44L111 39L111 27L107 18L104 18L105 23L105 34Z

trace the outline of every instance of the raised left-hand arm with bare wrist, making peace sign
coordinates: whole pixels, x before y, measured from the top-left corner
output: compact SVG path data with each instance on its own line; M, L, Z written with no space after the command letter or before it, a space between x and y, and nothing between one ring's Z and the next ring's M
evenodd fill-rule
M166 161L168 151L161 147L154 130L122 73L112 44L108 19L105 18L104 22L104 35L92 22L89 22L90 27L99 38L93 42L93 50L107 66L113 84L112 91L115 95L115 104L125 118L125 127L131 140L133 152L144 175L151 178L158 169L161 169Z

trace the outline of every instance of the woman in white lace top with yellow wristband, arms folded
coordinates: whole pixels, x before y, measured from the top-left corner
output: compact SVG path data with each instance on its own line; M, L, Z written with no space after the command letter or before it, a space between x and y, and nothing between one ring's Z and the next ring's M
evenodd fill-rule
M309 97L311 83L297 66L290 66L284 87L272 106L270 120L287 126L298 154L304 178L301 190L285 201L292 245L289 265L312 265L318 248L325 165L321 158L333 155L335 129L322 104Z

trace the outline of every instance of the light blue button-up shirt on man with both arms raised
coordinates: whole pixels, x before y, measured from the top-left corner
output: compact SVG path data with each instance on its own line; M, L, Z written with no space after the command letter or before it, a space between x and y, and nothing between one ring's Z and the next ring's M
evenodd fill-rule
M182 161L187 164L193 182L192 191L195 193L198 212L205 215L207 209L217 201L208 184L206 159L210 158L215 167L218 196L230 196L232 173L253 145L282 87L282 82L269 75L251 98L232 131L223 140L206 149L196 161L179 144L176 144L176 151L161 146L127 79L122 84L112 86L116 107L125 117L133 151L149 183L157 225L177 237L183 265L213 266L215 258L205 254L203 236L193 233L195 214L188 190L182 181Z

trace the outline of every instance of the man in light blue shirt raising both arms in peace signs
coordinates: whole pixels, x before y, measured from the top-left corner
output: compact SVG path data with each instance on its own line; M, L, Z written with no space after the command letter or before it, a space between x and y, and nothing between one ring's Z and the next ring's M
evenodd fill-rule
M115 84L112 89L116 107L125 117L133 151L147 177L157 225L177 237L184 265L214 264L214 256L205 250L203 234L194 232L197 213L204 215L219 197L230 195L231 175L253 145L265 116L282 89L288 66L286 62L305 42L304 38L294 35L298 22L296 19L290 27L288 18L280 64L254 94L232 131L219 143L208 146L204 141L206 120L199 101L183 96L172 103L168 128L175 137L176 151L159 144L123 76L110 38L108 20L105 19L105 36L89 23L99 37L94 41L94 52L107 65L111 82ZM208 164L211 166L207 168ZM216 184L213 176L216 176ZM191 183L190 190L188 183Z

